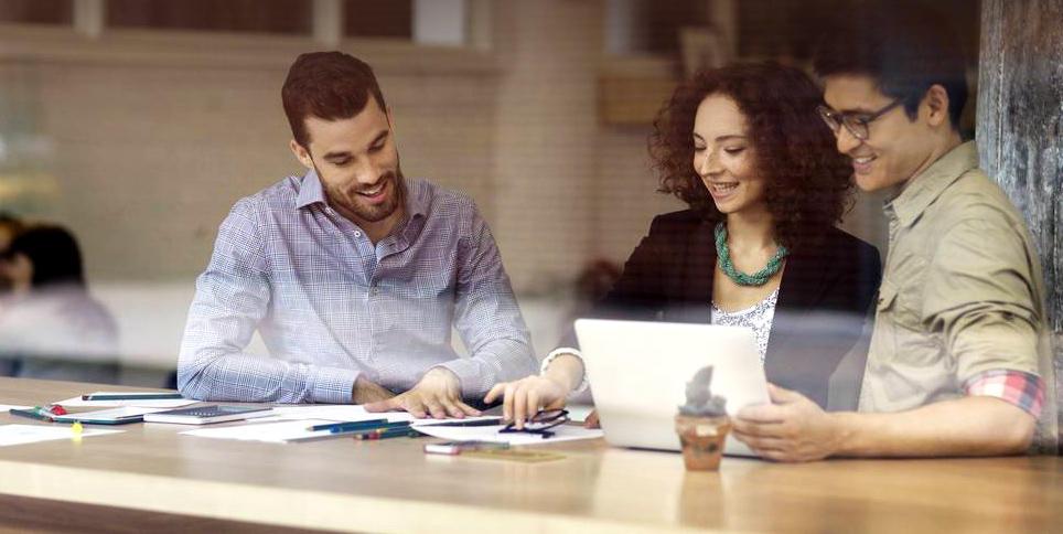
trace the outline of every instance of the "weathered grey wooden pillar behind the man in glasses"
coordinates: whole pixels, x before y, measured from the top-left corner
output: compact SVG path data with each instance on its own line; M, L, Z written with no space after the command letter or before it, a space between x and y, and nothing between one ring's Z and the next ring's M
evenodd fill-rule
M1063 391L1063 0L981 0L978 150L1027 218ZM1061 414L1063 415L1063 414ZM1063 428L1063 425L1061 425Z

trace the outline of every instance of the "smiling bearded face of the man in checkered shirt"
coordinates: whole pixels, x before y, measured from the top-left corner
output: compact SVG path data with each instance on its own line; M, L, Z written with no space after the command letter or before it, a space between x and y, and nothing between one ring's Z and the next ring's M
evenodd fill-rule
M366 232L384 233L402 215L402 172L390 110L376 100L354 117L305 119L310 147L291 141L296 157L316 170L329 204Z

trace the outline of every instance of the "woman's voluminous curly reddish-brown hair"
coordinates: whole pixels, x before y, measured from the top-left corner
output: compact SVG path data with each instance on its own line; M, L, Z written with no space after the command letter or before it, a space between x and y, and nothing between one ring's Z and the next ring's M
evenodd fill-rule
M676 195L710 222L723 218L694 168L694 118L710 95L731 98L745 115L753 172L766 180L775 241L791 248L817 242L850 205L852 167L816 111L823 102L819 88L798 68L734 63L681 83L649 136L658 191Z

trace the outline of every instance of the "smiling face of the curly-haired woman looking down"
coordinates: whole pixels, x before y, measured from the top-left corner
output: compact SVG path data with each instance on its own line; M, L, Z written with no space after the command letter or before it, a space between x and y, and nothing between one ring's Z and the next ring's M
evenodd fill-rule
M755 173L755 154L747 137L745 115L723 95L709 95L694 119L694 170L712 195L716 209L731 215L766 212L766 183Z

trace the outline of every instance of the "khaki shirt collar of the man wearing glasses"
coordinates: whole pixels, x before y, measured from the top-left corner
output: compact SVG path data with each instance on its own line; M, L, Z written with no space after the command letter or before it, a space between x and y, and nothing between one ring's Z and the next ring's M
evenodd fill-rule
M934 162L930 168L909 180L908 186L887 207L896 214L898 221L912 224L941 194L965 172L978 168L978 146L967 141Z

